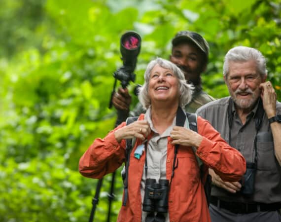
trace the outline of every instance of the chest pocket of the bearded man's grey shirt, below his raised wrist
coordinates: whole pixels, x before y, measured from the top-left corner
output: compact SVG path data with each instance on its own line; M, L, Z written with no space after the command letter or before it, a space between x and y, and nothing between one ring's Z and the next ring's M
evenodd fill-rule
M276 157L272 134L260 132L257 134L257 169L273 170L276 169Z

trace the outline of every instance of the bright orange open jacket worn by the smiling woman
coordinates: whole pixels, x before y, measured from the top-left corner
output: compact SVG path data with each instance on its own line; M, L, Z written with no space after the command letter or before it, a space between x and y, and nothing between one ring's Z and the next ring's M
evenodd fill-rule
M139 119L143 118L144 115L141 114ZM239 181L246 171L244 157L239 151L231 148L207 120L198 116L197 124L198 133L204 136L204 139L197 148L196 155L223 181ZM79 171L83 176L100 179L105 174L114 172L125 162L126 142L123 140L119 144L114 137L114 131L125 125L125 122L122 123L104 139L96 139L86 150L79 161ZM170 143L171 140L168 137L166 177L169 181L175 149ZM145 152L140 159L134 157L134 151L140 144L141 141L137 140L130 154L128 200L126 206L121 207L118 222L141 222L140 182ZM211 222L199 166L192 148L179 146L176 157L175 175L169 192L170 222ZM205 173L207 176L208 168Z

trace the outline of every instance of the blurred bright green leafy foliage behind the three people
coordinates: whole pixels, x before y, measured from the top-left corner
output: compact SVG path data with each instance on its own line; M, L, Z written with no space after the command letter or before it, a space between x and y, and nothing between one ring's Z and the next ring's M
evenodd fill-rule
M86 222L97 180L79 157L113 128L112 73L122 66L121 35L142 37L136 83L149 60L168 58L179 30L210 43L204 89L228 95L223 56L259 49L281 99L280 0L0 0L0 221ZM133 90L135 83L131 83ZM133 98L134 104L137 98ZM133 105L134 105L133 104ZM132 106L133 106L132 105ZM95 221L105 221L106 176ZM117 172L112 221L121 206Z

